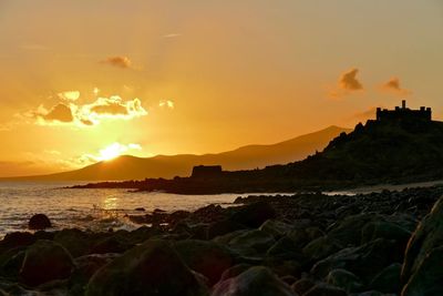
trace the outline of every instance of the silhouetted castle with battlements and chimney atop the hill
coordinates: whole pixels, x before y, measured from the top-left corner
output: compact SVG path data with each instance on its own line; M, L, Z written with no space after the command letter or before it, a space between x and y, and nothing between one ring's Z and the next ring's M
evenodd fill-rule
M406 108L406 101L402 101L402 106L395 106L395 110L377 109L377 121L388 120L408 120L408 119L421 119L425 121L432 120L431 108L421 106L419 110L411 110Z

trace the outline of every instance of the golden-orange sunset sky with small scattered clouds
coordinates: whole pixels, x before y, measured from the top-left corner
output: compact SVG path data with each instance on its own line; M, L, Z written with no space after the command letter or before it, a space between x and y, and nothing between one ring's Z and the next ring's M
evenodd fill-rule
M443 119L440 0L0 0L0 176Z

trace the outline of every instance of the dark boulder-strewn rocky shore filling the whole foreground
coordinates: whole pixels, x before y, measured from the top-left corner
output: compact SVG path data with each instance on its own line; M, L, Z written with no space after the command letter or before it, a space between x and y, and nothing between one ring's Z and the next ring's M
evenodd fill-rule
M249 196L140 211L133 232L11 233L0 295L443 295L442 194Z

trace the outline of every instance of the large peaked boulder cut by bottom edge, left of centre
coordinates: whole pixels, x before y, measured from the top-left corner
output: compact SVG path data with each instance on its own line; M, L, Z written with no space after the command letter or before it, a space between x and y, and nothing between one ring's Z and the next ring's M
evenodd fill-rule
M206 296L208 290L164 241L146 241L100 268L86 296Z

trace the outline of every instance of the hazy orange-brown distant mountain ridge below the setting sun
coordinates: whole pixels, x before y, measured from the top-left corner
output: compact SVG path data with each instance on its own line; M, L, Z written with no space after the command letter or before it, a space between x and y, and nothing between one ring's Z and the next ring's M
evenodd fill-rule
M253 170L271 164L285 164L302 160L323 150L331 139L349 129L329 126L324 130L297 136L271 145L248 145L218 154L157 155L154 157L120 156L86 167L40 176L9 177L2 181L123 181L146 177L187 176L195 165L219 164L224 170Z

